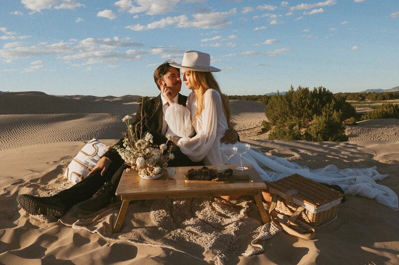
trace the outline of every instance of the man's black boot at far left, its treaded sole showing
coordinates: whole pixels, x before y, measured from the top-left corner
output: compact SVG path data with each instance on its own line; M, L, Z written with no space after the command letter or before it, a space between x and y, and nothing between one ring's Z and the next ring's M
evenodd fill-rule
M53 198L52 196L37 197L21 194L16 197L16 201L19 207L31 215L42 214L59 219L67 210L66 206L59 199Z

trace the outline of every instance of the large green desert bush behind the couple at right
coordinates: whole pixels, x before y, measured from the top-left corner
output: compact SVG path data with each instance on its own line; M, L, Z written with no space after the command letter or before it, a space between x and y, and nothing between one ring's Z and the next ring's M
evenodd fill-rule
M347 141L344 120L355 116L355 108L328 89L291 86L285 95L270 98L265 114L272 129L269 139Z

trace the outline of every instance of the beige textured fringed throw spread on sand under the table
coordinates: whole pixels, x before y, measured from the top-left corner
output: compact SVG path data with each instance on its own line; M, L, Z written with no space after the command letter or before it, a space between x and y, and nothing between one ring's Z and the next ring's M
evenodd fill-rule
M132 201L121 232L112 234L119 206L85 218L75 217L72 209L61 222L106 239L169 248L215 264L228 263L231 255L262 252L263 241L279 231L261 223L251 197L234 203L221 198Z

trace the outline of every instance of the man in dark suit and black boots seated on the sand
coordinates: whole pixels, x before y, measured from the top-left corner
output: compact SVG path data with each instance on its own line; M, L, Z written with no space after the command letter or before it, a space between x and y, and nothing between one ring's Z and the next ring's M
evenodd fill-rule
M155 144L165 143L165 135L167 133L173 134L165 121L164 112L168 103L162 94L172 93L174 101L182 105L186 105L187 101L187 96L179 93L182 87L180 70L170 66L171 63L174 62L167 61L155 70L154 81L161 90L161 94L142 102L132 123L133 126L141 127L143 133L151 132ZM237 140L237 132L227 130L220 141L235 143ZM115 146L121 144L122 140ZM174 154L175 159L168 163L171 167L201 165L192 162L177 146ZM114 148L110 148L101 157L88 177L72 187L49 197L21 194L18 195L17 202L29 214L43 214L57 219L75 204L77 204L77 210L82 214L95 213L112 203L124 169L124 161Z

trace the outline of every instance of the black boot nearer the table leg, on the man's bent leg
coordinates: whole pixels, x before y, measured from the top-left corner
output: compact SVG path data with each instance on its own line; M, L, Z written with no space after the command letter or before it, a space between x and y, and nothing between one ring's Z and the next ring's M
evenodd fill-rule
M76 210L78 213L89 215L107 207L116 198L115 190L111 182L106 182L90 199L77 204Z

